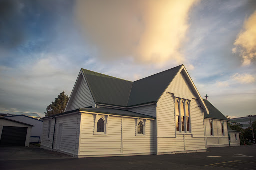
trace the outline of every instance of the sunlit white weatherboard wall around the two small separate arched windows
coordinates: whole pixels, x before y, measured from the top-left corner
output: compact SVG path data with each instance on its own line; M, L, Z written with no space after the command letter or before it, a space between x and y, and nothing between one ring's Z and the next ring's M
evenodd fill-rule
M79 157L140 155L155 152L153 120L146 121L145 136L135 135L135 118L110 115L107 135L93 134L94 121L95 114L82 113Z

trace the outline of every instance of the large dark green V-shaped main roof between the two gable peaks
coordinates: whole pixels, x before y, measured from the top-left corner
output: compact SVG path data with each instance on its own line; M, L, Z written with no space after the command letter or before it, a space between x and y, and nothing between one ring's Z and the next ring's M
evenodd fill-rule
M116 106L134 106L156 102L168 87L182 65L131 82L82 69L96 103Z

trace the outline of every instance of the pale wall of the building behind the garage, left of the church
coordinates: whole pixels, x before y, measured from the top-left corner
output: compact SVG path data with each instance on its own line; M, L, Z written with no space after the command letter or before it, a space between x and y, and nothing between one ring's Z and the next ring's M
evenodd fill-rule
M10 117L7 117L8 119L11 119L11 120L16 120L16 121L19 121L19 122L24 122L24 123L27 123L27 124L30 124L30 125L34 125L31 129L31 136L42 136L42 125L43 125L43 121L40 121L38 119L33 119L33 118L30 118L30 117L26 117L26 116L23 116L23 115L19 115L19 116L10 116ZM30 142L37 142L38 141L38 138L31 138L30 139ZM40 141L41 141L41 138L40 138Z

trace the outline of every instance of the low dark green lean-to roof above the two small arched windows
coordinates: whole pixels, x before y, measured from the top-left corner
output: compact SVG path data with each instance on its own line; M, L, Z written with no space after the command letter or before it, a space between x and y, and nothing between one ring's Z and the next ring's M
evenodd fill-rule
M153 116L148 116L128 110L122 110L122 109L112 109L112 108L81 108L80 111L87 111L87 112L95 112L95 113L105 113L110 115L120 115L120 116L131 116L131 117L139 117L139 118L150 118L155 119Z

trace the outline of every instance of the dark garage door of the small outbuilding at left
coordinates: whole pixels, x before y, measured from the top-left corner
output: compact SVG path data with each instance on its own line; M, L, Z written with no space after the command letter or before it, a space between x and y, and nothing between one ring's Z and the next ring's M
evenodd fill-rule
M3 126L0 146L25 146L27 127Z

